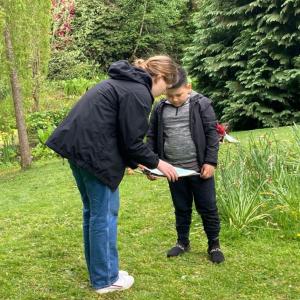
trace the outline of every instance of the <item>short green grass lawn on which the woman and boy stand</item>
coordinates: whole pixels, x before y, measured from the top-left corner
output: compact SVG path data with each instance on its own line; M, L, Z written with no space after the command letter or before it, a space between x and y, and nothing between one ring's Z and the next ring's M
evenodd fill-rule
M246 133L235 136L244 140ZM54 159L2 172L0 299L300 299L300 239L268 229L238 235L223 226L226 261L212 265L194 214L191 252L167 259L176 238L165 180L126 176L120 192L120 267L135 284L100 296L87 279L81 202L67 163Z

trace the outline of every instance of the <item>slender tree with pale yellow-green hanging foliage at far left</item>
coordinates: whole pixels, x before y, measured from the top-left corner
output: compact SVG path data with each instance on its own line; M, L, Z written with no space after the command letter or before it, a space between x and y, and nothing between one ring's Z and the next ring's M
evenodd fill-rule
M22 168L27 168L31 164L23 99L28 87L32 86L32 57L36 51L40 50L38 46L35 46L39 45L39 32L37 31L39 26L35 24L38 20L32 17L36 16L35 9L38 8L40 8L38 0L5 0L0 2L0 11L3 16L0 23L0 30L3 32L0 40L0 51L5 50L6 54L7 72L4 74L8 74L10 78ZM43 38L47 39L47 36ZM3 53L0 55L3 57Z

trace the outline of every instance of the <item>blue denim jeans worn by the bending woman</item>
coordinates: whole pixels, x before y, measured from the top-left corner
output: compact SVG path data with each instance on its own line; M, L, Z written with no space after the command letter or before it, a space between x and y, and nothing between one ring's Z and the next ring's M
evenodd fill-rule
M84 253L95 289L118 279L117 221L119 191L112 191L88 171L69 161L83 203Z

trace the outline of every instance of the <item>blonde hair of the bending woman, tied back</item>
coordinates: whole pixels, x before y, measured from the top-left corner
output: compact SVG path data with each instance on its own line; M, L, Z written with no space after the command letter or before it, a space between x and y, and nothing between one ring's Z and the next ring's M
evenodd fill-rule
M133 65L145 70L151 77L161 75L169 85L177 82L178 65L167 55L156 55L148 59L136 59Z

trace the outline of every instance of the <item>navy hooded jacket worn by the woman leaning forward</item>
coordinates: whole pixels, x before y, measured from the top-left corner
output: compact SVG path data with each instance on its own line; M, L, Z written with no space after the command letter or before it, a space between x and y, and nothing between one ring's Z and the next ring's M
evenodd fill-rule
M152 79L127 61L111 65L49 137L46 145L94 174L112 190L126 166L156 168L158 156L144 144L153 103Z

